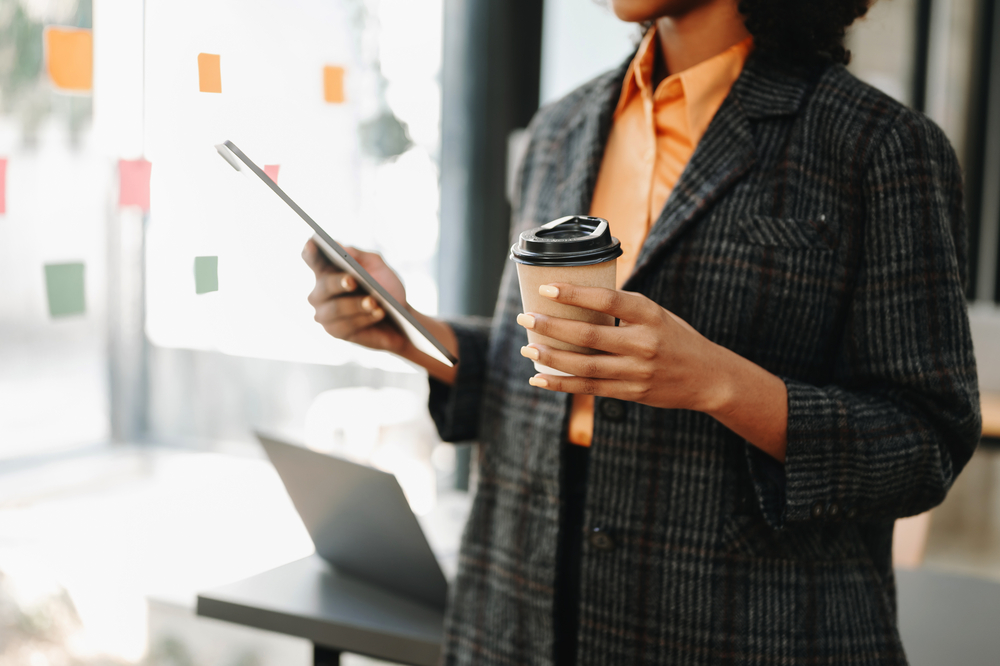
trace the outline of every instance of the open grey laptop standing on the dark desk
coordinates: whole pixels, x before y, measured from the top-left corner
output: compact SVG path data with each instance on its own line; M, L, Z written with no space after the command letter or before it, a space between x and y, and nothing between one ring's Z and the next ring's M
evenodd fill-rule
M395 476L256 435L323 559L388 592L444 610L448 583Z

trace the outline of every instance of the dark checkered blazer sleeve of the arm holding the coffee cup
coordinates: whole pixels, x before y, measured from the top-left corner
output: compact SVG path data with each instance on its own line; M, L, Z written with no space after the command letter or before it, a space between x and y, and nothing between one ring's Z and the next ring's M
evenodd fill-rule
M939 504L982 433L964 293L961 173L948 140L907 113L863 179L860 263L833 381L788 387L781 465L747 455L776 528L887 520Z

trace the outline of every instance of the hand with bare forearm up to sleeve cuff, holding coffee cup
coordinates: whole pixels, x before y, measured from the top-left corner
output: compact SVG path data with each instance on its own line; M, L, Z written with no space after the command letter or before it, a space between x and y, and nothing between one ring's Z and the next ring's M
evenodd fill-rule
M532 386L705 412L784 462L788 389L780 377L715 344L641 294L561 283L542 285L538 293L617 317L622 325L518 315L517 323L525 328L606 352L578 354L543 344L521 347L522 355L575 375L538 374L528 380Z

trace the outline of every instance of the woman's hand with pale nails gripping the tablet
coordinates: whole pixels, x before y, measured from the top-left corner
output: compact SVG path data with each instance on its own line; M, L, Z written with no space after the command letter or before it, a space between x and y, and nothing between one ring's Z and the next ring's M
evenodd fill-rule
M380 255L352 247L344 249L393 298L409 307L403 283ZM316 321L327 333L371 349L395 354L407 351L410 341L386 318L382 306L371 296L359 293L357 281L331 264L312 239L306 242L302 258L316 274L316 286L309 294L309 303L316 309Z

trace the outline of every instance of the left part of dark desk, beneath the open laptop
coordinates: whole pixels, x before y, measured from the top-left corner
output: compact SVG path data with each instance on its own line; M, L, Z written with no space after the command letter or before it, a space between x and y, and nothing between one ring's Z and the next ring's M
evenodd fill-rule
M353 652L436 666L444 617L338 573L318 555L198 595L198 615L307 638L314 663Z

